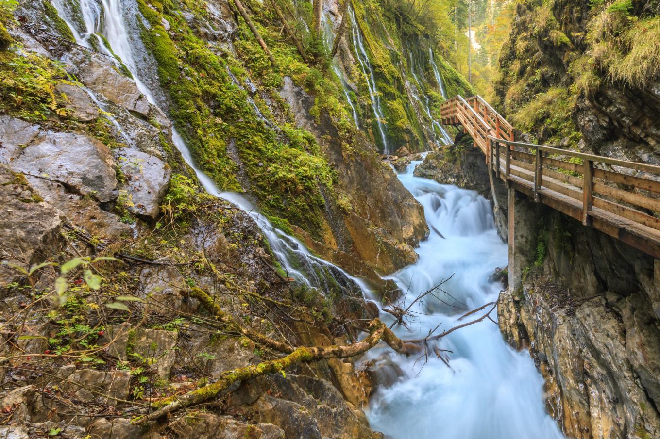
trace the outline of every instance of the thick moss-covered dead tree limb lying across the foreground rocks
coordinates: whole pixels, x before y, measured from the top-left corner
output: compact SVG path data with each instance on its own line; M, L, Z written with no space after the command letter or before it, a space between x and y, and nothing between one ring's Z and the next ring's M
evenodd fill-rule
M272 374L280 372L286 368L297 365L299 363L310 363L311 361L318 361L323 359L332 358L349 358L356 355L362 355L372 347L376 346L379 341L383 340L389 347L399 353L410 355L419 350L416 345L405 343L394 335L391 330L375 318L368 326L369 336L362 341L352 343L350 345L333 345L327 347L298 347L286 357L270 361L264 361L258 365L246 366L236 370L229 370L220 375L220 379L213 384L203 386L197 390L193 390L181 397L168 397L154 403L154 407L158 410L145 415L135 422L135 424L145 424L151 421L156 421L173 411L177 411L188 407L189 405L203 403L218 394L228 390L234 384L240 384L257 376Z

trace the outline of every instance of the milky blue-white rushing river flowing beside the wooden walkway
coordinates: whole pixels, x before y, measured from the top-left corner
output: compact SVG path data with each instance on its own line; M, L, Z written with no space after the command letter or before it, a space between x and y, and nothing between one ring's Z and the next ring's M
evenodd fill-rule
M436 293L438 299L427 296L424 305L413 305L416 314L409 327L396 330L405 339L424 338L438 324L437 333L481 316L486 311L457 323L467 310L497 299L500 286L489 283L488 276L507 264L488 202L471 190L414 177L418 163L399 179L424 206L432 232L417 249L418 262L392 278L407 291L407 303L442 279L453 278L442 285L451 296ZM453 351L442 353L451 368L434 355L434 343ZM414 355L392 355L405 376L372 397L372 428L395 439L564 438L545 412L543 379L529 354L506 345L493 322L457 330L429 348L428 363Z

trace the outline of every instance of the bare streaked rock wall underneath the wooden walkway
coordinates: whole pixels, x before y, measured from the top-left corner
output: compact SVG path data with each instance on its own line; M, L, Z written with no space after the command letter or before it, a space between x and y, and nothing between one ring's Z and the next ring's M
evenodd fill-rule
M660 437L660 262L537 203L517 203L514 264L527 273L502 293L499 324L510 344L529 347L550 414L569 437ZM541 238L539 221L548 231Z

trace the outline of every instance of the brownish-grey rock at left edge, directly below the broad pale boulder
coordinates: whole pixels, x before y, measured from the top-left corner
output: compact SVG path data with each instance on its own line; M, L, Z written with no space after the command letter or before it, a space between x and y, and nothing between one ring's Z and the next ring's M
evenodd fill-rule
M0 164L0 260L29 267L59 248L63 214L43 202L20 173ZM19 279L18 272L0 265L0 286Z

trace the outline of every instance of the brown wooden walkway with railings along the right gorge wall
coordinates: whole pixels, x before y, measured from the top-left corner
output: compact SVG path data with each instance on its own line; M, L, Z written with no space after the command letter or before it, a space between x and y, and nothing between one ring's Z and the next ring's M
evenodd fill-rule
M508 187L660 259L660 166L515 142L512 125L480 96L455 96L441 113Z

